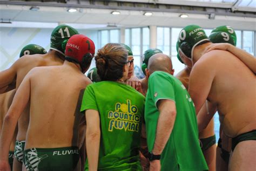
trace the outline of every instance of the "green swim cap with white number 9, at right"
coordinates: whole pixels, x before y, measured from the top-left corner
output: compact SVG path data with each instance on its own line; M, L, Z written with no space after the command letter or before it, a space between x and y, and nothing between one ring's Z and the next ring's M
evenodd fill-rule
M229 43L234 45L234 40L231 35L222 31L211 33L209 39L212 43Z

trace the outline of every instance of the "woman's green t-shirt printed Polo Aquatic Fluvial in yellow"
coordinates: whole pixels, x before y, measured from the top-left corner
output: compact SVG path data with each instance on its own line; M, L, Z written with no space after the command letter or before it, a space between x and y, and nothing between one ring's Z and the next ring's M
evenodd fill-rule
M97 110L100 116L98 170L142 170L139 147L144 103L145 97L126 84L100 81L86 87L80 111Z

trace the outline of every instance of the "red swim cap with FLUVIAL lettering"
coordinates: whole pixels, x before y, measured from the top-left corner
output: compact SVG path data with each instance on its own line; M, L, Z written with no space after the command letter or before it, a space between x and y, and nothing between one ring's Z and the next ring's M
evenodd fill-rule
M91 64L95 54L95 45L84 35L73 35L66 43L65 59L71 59L80 64L82 70Z

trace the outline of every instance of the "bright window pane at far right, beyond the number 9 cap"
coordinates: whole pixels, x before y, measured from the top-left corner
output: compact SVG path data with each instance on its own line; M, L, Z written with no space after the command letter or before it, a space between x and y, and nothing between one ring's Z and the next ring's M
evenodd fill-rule
M253 55L253 43L254 43L254 32L244 31L244 37L242 39L244 47L242 49Z

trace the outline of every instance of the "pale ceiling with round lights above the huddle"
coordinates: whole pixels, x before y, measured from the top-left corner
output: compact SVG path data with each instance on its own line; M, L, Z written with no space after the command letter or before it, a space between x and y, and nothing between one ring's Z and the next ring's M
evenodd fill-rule
M54 28L59 23L71 23L76 24L76 28L102 29L107 25L183 27L198 24L204 28L230 25L234 29L256 30L255 5L256 1L251 0L0 1L0 27ZM30 10L31 6L38 10ZM78 11L70 13L69 8ZM120 15L112 15L113 10L118 10ZM153 15L144 16L147 11ZM188 17L180 18L182 13ZM209 19L210 14L214 19Z

